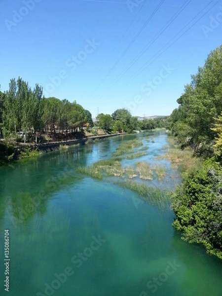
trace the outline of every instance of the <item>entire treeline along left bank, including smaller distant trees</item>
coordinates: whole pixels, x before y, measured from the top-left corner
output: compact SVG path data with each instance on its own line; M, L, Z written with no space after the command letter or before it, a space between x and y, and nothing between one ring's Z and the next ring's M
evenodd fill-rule
M32 89L22 78L10 80L9 89L0 92L0 136L16 138L25 143L37 143L41 133L47 134L47 139L54 134L59 136L76 134L83 131L96 133L99 128L109 133L127 132L134 130L151 130L164 127L164 118L144 119L132 116L126 109L117 109L111 115L100 113L93 122L90 111L85 110L76 101L59 100L54 97L44 98L43 89L36 84ZM92 128L94 127L94 130ZM20 139L19 139L20 138ZM44 141L44 140L43 140Z

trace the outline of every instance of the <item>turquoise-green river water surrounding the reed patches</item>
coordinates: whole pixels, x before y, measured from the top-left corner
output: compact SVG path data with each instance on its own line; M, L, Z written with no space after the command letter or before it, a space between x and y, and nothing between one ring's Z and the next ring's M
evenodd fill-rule
M166 189L180 183L170 162L157 158L168 145L164 131L150 132L149 142L142 134L119 136L0 167L0 295L222 296L222 261L181 240L169 207L150 205L113 178L75 172L135 137L148 155L124 158L123 166L162 163L165 178L146 183ZM9 293L3 286L4 229Z

